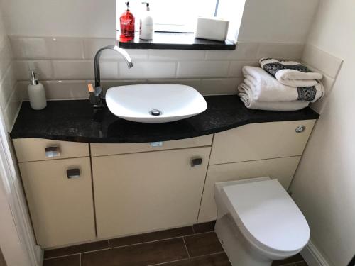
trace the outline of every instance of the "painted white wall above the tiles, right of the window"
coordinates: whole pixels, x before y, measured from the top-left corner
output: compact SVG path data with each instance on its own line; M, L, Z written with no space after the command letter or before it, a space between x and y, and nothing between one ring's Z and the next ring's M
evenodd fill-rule
M239 41L305 43L319 0L246 0Z

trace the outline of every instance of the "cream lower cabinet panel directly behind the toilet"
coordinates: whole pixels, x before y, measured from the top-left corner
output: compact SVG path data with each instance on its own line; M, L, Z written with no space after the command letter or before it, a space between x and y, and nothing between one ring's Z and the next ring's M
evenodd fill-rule
M236 162L224 165L209 165L198 218L199 223L212 221L217 217L214 201L214 183L254 177L278 179L288 189L297 169L300 156L251 162ZM253 196L253 195L251 195Z

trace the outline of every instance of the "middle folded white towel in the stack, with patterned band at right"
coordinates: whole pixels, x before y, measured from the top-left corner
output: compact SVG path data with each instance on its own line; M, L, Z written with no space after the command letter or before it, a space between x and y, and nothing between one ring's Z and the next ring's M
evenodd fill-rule
M323 86L317 83L312 87L290 87L280 84L260 67L245 66L242 69L244 83L253 91L256 101L311 101L323 95Z

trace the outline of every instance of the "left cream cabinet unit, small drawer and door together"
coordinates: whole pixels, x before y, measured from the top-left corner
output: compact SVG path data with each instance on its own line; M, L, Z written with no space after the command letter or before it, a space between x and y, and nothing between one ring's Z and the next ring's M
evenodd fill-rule
M19 138L13 146L38 245L94 239L89 144Z

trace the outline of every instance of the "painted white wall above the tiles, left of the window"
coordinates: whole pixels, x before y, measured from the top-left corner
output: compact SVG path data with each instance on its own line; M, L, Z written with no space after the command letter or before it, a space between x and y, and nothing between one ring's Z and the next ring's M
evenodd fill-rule
M9 35L116 37L116 0L1 1Z

